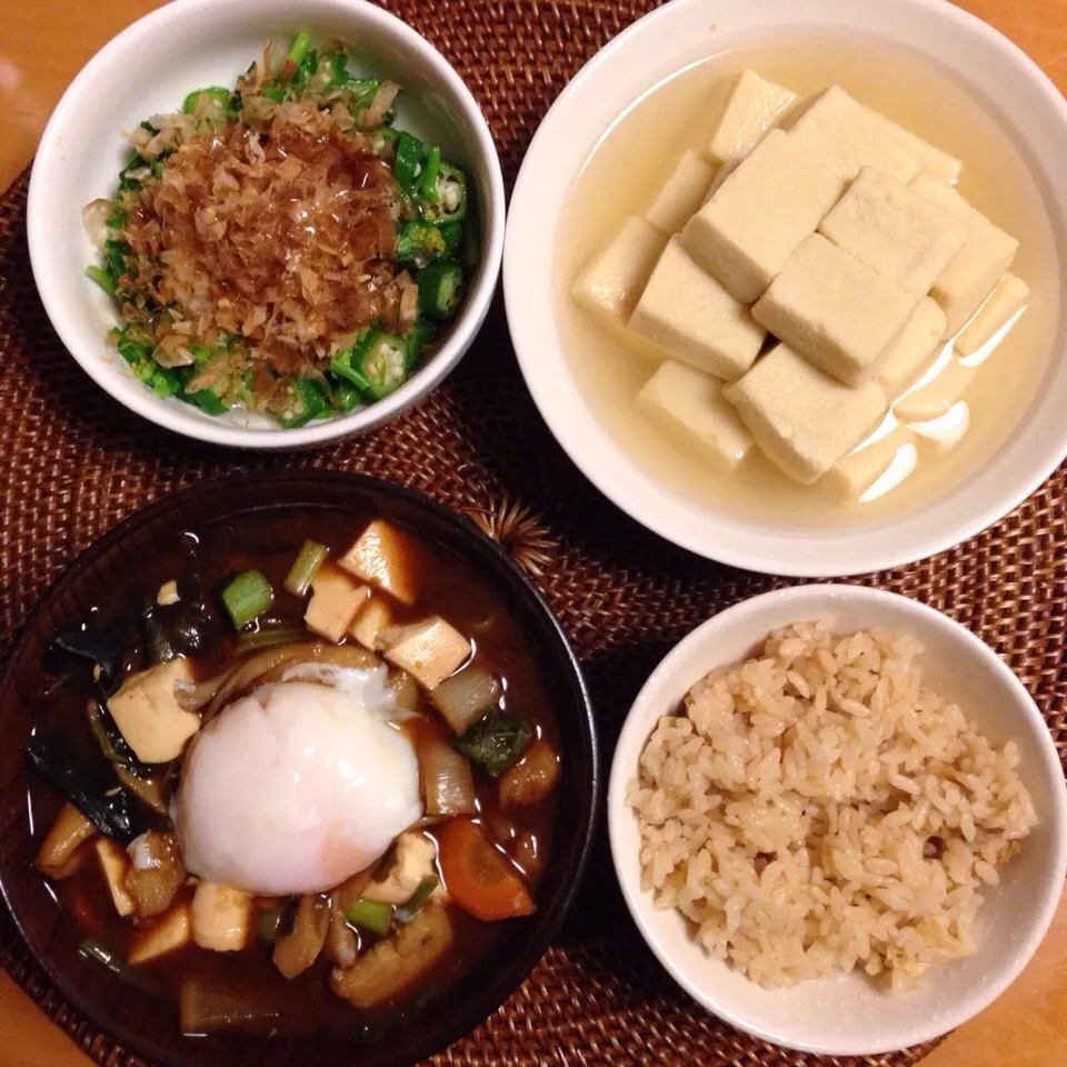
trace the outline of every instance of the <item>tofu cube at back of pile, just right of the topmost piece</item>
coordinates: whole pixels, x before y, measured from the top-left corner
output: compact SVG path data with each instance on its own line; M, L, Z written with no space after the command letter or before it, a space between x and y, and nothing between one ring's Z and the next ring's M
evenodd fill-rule
M907 183L921 168L887 124L840 86L831 86L797 119L789 133L846 181L864 167L874 167Z

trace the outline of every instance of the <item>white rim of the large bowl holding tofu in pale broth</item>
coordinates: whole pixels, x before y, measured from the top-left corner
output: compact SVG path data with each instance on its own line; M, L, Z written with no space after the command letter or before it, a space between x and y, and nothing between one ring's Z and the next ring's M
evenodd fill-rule
M1013 485L1001 488L997 493L993 493L994 499L990 500L989 503L977 509L965 519L957 520L950 531L946 531L939 537L916 537L915 544L900 540L896 542L894 547L884 548L880 551L871 551L867 555L857 555L849 558L847 562L835 558L835 554L828 554L825 559L811 559L798 564L781 555L774 557L767 554L759 555L747 548L724 549L719 545L710 547L706 532L692 534L688 530L679 530L668 518L665 518L664 510L659 507L662 502L661 500L641 500L638 493L622 483L621 480L619 482L611 481L604 473L604 470L594 462L590 457L585 455L581 443L582 430L579 426L564 417L559 411L558 405L555 402L556 393L540 379L538 369L544 358L541 346L528 343L523 339L522 330L516 327L517 313L515 308L519 307L522 298L522 293L517 289L519 283L517 268L522 256L522 250L519 247L519 238L513 237L513 235L517 233L522 221L525 190L527 185L532 180L531 170L535 166L538 149L542 142L550 144L552 139L558 136L556 126L562 122L562 116L569 106L571 97L579 92L585 83L596 76L601 66L610 61L616 51L626 47L630 38L644 32L647 27L655 21L671 18L672 12L677 13L677 10L680 8L700 6L706 2L707 0L674 0L674 2L664 4L642 16L617 34L568 82L562 92L556 98L551 108L549 108L548 113L542 119L527 149L511 193L508 233L503 251L505 307L511 332L511 341L527 388L530 390L530 395L540 411L541 418L547 423L552 436L582 475L585 475L605 497L647 529L698 556L714 559L731 567L767 575L787 575L797 578L841 578L905 566L954 548L956 545L975 537L1010 513L1056 471L1060 463L1067 459L1067 423L1060 429L1055 445L1049 447L1046 458L1035 463L1027 477L1020 478ZM838 4L838 7L840 7L840 4ZM1064 127L1067 129L1067 99L1064 98L1049 77L1021 48L976 14L954 3L945 3L944 0L893 0L891 4L885 4L884 7L911 7L920 9L936 18L954 22L965 31L977 34L987 42L996 46L1013 59L1018 72L1025 76L1031 86L1043 93L1047 102L1059 112ZM815 22L812 22L812 24L815 24ZM1061 317L1067 319L1067 310L1061 311ZM599 420L590 415L589 421L596 425ZM615 446L612 445L611 447L614 448ZM915 517L913 517L913 519ZM724 517L720 525L738 526L744 525L744 520ZM804 532L808 534L809 531ZM816 531L816 536L818 537L824 536L824 534L827 537L829 536L829 531Z

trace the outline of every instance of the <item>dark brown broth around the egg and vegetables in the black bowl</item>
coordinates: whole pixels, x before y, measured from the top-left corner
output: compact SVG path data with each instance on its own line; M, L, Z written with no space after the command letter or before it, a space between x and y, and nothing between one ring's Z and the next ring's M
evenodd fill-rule
M213 630L217 644L201 655L190 655L189 659L197 680L211 677L220 666L232 661L237 650L237 635L218 599L218 590L229 578L250 568L260 570L276 591L273 604L261 621L301 624L307 599L282 590L282 582L301 544L305 540L325 544L330 549L330 558L336 559L343 555L371 518L375 517L326 508L271 509L262 515L246 513L176 535L169 542L158 546L151 559L138 560L131 566L129 579L92 612L93 628L106 631L111 620L118 626L118 620L124 616L137 618L147 605L154 601L157 590L164 582L177 578L180 587L185 582L189 588L189 580L198 576L202 600L216 614L219 625ZM399 528L403 530L402 526ZM415 549L410 561L417 596L410 605L393 605L393 621L403 624L428 615L441 615L448 619L473 647L469 664L485 667L501 680L506 714L526 719L532 728L534 739L544 739L559 752L559 735L536 654L530 650L505 601L449 550L410 530L403 532ZM143 669L149 662L147 646L141 644L127 661L126 674ZM58 727L80 747L102 758L89 729L84 696L70 686L57 685L41 695L39 704L40 725ZM449 735L443 720L435 719L436 712L425 695L420 710L426 712L425 725L416 727L415 732L439 738ZM59 811L61 800L37 776L31 776L31 821L34 840L39 844ZM536 901L539 875L551 849L557 822L554 794L505 812L495 779L476 769L475 788L479 809L475 821L487 830L499 848L509 855L517 852L516 842L523 835L535 842L535 864L523 866L522 855L512 855L512 860ZM141 808L138 812L139 826L141 822L154 827L167 825L168 820L153 812ZM425 827L423 831L433 837L433 826ZM90 851L91 846L91 840L80 846L76 854L79 861L76 872L51 881L51 889L67 921L76 926L79 939L92 938L118 959L124 960L136 927L129 918L117 914L107 882ZM177 900L189 900L192 893L193 887L186 885ZM445 906L455 935L445 955L411 990L370 1009L355 1008L331 993L328 981L331 965L323 954L309 970L295 979L285 979L271 961L271 943L257 936L255 924L259 913L255 908L252 933L246 948L220 953L190 943L169 956L133 967L130 974L138 985L169 1000L176 1016L182 984L191 976L198 976L220 995L256 1004L258 1019L246 1027L250 1031L335 1033L371 1039L382 1029L409 1019L427 999L477 966L503 934L506 923L480 921L455 901ZM360 937L366 947L366 935Z

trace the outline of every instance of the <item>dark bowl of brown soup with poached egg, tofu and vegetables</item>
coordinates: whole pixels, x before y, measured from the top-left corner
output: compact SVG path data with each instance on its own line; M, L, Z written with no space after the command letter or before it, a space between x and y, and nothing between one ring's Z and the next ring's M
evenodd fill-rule
M598 788L578 666L506 551L400 487L164 498L51 588L0 688L4 898L151 1061L416 1063L574 899Z

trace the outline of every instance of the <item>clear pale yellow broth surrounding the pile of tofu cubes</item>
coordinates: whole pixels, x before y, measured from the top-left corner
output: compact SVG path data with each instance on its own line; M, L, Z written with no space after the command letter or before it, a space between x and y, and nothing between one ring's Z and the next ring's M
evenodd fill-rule
M918 446L917 469L861 503L822 479L801 486L758 448L735 471L717 469L654 421L637 393L666 359L648 342L580 307L569 288L630 215L644 215L685 149L702 151L730 79L744 69L810 97L837 83L861 103L963 160L958 189L1019 242L1010 270L1030 287L1026 312L964 395L970 427L944 453ZM1038 392L1060 313L1061 270L1041 191L996 117L965 87L910 51L862 37L770 41L700 61L637 100L606 131L578 177L559 225L556 299L577 387L620 451L674 495L749 521L859 529L921 510L984 466Z

